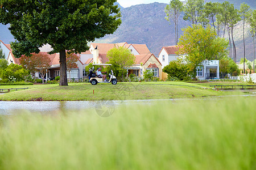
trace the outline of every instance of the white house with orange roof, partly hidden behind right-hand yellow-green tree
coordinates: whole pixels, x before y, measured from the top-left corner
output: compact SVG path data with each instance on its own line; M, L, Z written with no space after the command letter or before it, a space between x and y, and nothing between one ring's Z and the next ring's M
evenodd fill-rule
M184 57L186 54L177 54L179 46L163 46L158 54L158 59L162 63L162 67L167 66L171 61L177 58ZM201 63L202 66L196 69L196 78L200 80L205 79L219 79L220 63L218 60L205 60ZM162 73L162 79L167 79L167 73Z

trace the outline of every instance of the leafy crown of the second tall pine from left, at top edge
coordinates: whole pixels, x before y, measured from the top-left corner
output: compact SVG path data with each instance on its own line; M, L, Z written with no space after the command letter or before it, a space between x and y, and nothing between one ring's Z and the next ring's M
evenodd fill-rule
M184 7L184 20L190 20L192 24L206 22L204 18L204 0L188 0Z

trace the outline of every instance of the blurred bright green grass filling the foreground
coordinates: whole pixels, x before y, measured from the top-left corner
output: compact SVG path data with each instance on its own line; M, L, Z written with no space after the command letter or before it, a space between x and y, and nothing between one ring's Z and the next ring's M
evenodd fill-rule
M255 96L0 116L0 169L256 169Z

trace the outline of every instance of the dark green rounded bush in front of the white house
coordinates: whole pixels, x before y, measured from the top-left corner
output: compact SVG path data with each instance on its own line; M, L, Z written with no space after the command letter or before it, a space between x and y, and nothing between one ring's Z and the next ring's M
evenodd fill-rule
M171 61L163 68L163 72L168 74L169 80L189 80L188 66L179 61Z

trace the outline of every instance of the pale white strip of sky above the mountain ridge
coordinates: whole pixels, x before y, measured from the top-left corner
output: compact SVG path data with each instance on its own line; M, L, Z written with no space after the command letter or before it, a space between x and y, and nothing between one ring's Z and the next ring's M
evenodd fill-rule
M181 0L185 1L185 0ZM132 5L138 5L141 3L153 3L153 2L159 2L159 3L170 3L170 0L117 0L117 2L122 7L130 7Z

